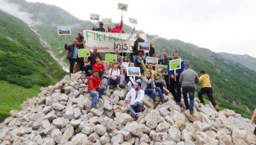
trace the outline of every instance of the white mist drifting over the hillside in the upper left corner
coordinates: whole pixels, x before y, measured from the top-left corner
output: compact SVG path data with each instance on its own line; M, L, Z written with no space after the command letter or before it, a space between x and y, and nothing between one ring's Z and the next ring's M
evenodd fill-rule
M36 23L34 22L34 20L31 19L31 17L33 16L32 14L20 11L17 4L12 4L10 2L7 2L6 0L0 0L0 10L19 18L30 26Z

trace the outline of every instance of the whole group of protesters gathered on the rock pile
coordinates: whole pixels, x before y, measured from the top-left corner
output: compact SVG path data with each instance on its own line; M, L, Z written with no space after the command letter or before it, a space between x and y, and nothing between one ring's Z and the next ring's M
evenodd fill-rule
M100 22L100 28L94 28L94 30L104 32L104 28L102 27L103 23ZM121 32L122 30L122 20L121 24L116 24L116 27L111 29L108 28L110 32ZM130 79L127 76L127 71L124 69L122 62L128 62L128 58L126 56L121 56L119 50L115 50L115 54L117 55L116 62L112 62L109 66L110 69L107 71L108 75L107 79L107 87L102 85L101 79L104 76L104 72L107 67L104 66L102 57L98 53L97 48L93 48L93 52L91 52L90 57L88 59L83 60L82 58L78 58L78 49L84 48L85 40L83 38L82 33L78 33L78 38L73 40L71 45L65 43L65 50L68 50L68 60L70 61L70 74L74 71L74 64L80 64L80 70L86 73L88 77L88 91L90 95L94 98L91 104L91 107L97 108L98 98L102 96L103 92L110 87L110 85L116 85L116 89L121 90L120 83L121 77L120 75L124 75L125 81L127 83L127 87L129 92L126 94L126 103L124 106L127 106L131 114L135 119L138 119L138 114L136 111L142 111L143 106L143 97L144 95L148 95L152 98L155 105L158 102L156 99L156 93L160 98L162 103L168 101L168 99L164 98L163 90L166 87L170 93L172 93L174 97L174 101L177 104L181 105L181 94L183 94L184 103L186 108L189 109L190 114L194 113L194 92L195 92L195 83L200 82L202 88L198 93L198 98L201 103L204 104L204 100L202 95L206 93L208 95L212 105L216 108L217 111L218 105L213 97L212 86L210 84L210 77L206 74L204 70L200 72L200 77L198 77L197 73L192 70L192 68L188 68L185 70L185 62L181 60L181 68L170 71L169 70L169 62L170 60L175 60L180 58L179 52L175 51L172 56L168 55L167 51L163 52L163 59L159 59L158 64L167 65L168 75L163 75L162 73L156 73L154 70L154 66L152 63L147 63L145 65L145 57L156 57L159 58L159 54L155 54L153 44L150 43L150 51L148 54L145 54L143 51L138 50L138 42L144 42L142 38L140 38L140 34L136 34L136 41L134 42L133 51L130 53L130 62L129 67L139 67L142 76L136 77L136 82ZM134 61L134 56L138 56ZM92 73L91 73L92 72ZM182 87L182 91L181 91ZM187 95L188 94L188 95ZM188 102L188 96L190 101ZM128 104L128 100L131 99Z

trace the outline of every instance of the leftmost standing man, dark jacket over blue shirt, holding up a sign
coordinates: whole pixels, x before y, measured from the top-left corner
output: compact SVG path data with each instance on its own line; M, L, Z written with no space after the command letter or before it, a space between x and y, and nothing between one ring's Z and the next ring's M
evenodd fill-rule
M68 60L69 60L69 76L71 73L74 72L74 65L75 62L77 62L78 64L82 63L82 60L80 58L78 58L78 46L77 46L78 41L76 39L73 40L73 44L68 45L68 43L65 43L65 50L68 50Z

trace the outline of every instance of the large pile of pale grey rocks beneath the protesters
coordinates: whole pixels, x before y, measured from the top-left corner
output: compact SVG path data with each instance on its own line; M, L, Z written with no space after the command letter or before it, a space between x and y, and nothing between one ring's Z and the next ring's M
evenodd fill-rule
M68 75L54 86L42 88L38 97L27 99L21 111L10 111L0 124L3 145L253 145L256 125L232 110L217 112L195 99L195 113L169 101L154 106L144 97L141 119L134 121L122 107L126 86L110 90L88 109L92 97L82 72ZM102 79L106 85L106 79ZM158 98L159 99L159 98Z

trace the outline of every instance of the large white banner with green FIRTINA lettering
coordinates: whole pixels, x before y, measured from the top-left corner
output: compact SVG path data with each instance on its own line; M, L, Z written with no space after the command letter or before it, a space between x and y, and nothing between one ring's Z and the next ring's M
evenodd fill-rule
M132 52L132 46L136 40L136 34L130 33L109 33L92 30L83 30L86 48L93 50L98 48L98 52ZM146 34L140 34L140 37L147 42Z

